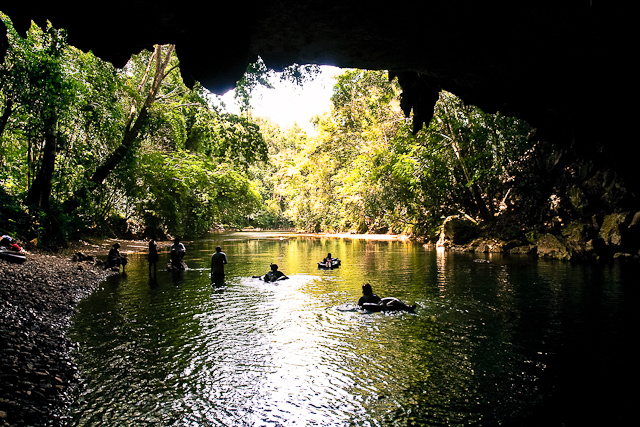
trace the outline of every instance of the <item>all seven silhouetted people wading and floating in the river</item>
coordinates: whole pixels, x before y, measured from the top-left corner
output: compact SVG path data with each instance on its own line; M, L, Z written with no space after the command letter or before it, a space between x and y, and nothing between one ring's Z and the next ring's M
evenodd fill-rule
M127 258L120 255L119 252L120 244L116 243L113 245L112 249L109 251L109 255L107 257L107 264L105 269L114 267L114 266L122 266L122 272L124 273L124 268L127 265ZM182 266L184 263L182 262L182 258L184 257L187 249L184 244L180 242L179 238L174 239L173 244L170 248L170 264L173 266ZM154 274L157 273L156 264L158 262L158 243L155 238L152 238L149 241L149 276L151 276L151 270L153 268ZM323 260L324 262L331 262L333 258L331 254L328 254L327 257ZM224 266L228 263L227 254L222 252L222 248L220 246L216 247L216 251L211 255L211 283L215 285L220 285L224 283L225 274L224 274ZM276 282L279 280L285 280L289 277L278 270L277 264L271 264L270 270L264 275L253 276L253 278L259 278L264 280L265 282ZM369 283L365 283L362 285L362 297L358 300L358 306L362 309L369 311L410 311L413 312L416 308L416 305L408 305L398 298L386 297L380 298L378 295L373 293L373 288Z

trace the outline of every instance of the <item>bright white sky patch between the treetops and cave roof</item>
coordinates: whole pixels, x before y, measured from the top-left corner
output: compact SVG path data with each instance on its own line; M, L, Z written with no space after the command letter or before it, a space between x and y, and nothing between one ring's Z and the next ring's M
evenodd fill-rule
M252 94L253 115L268 117L283 130L297 123L308 135L315 135L309 120L313 116L329 111L335 83L333 77L341 72L340 68L323 65L320 67L320 74L303 86L281 82L277 77L271 80L274 89L260 87ZM228 111L238 112L233 91L227 92L222 100Z

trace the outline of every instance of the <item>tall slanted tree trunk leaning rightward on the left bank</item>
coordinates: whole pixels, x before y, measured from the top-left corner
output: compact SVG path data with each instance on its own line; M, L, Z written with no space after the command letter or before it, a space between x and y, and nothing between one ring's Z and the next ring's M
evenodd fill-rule
M142 90L144 84L149 78L149 73L151 67L155 61L155 75L153 76L153 83L149 88L149 92L147 92L147 96L140 107L140 112L136 117L137 103L133 102L131 106L131 111L129 112L129 116L125 123L125 130L122 136L122 142L100 166L96 168L94 173L89 178L89 185L91 187L95 187L98 185L102 185L104 180L109 176L111 172L120 164L122 159L125 158L131 147L133 147L134 143L138 140L140 136L140 130L142 129L145 121L149 116L149 108L153 104L160 90L160 86L162 85L162 81L166 77L167 66L169 65L169 61L171 60L171 56L173 51L175 50L175 45L168 45L167 50L164 55L164 59L162 57L162 46L156 45L154 49L153 55L149 59L149 63L147 64L147 69L145 71L144 76L140 84L138 85L138 90ZM134 120L135 119L135 120ZM79 205L79 199L86 195L90 191L90 188L82 187L79 188L64 204L64 211L69 213L75 210Z

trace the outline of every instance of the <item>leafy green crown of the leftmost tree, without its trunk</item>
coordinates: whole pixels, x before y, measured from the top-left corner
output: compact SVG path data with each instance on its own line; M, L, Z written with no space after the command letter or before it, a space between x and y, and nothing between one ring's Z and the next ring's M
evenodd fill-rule
M38 170L45 133L73 115L75 90L71 73L62 66L67 49L64 31L32 25L22 38L6 15L0 19L9 40L0 67L0 162L12 165L13 173L4 179L12 181L7 188L17 194L29 188Z

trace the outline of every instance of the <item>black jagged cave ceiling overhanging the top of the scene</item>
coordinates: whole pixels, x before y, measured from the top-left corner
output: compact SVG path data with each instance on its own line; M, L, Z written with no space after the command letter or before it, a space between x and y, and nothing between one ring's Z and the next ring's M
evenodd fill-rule
M627 24L634 15L616 3L13 1L0 10L21 32L31 20L49 20L68 30L70 44L118 67L141 49L175 43L185 81L215 93L233 88L258 55L276 70L292 63L389 70L424 122L434 93L445 89L485 111L518 115L540 135L589 147L629 134L630 124L607 123L627 120L608 109L635 86Z

